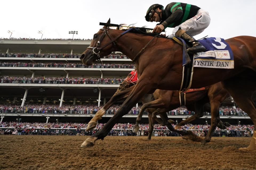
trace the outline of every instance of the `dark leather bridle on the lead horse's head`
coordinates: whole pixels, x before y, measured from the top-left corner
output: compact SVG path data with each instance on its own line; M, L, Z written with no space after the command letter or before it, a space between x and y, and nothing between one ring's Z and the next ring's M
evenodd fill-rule
M91 46L89 46L89 47L87 47L87 49L93 49L93 55L97 55L97 57L98 57L97 60L101 61L101 56L99 55L100 50L103 49L103 48L105 48L105 47L108 46L109 44L113 43L113 44L114 44L114 51L115 51L115 49L116 49L116 44L115 44L114 41L115 41L116 39L118 39L119 37L121 37L122 35L124 35L125 33L131 31L132 29L133 29L133 28L129 28L129 29L127 29L125 32L122 32L122 33L119 34L117 37L113 38L113 37L109 34L109 27L107 27L107 28L100 28L100 30L103 30L103 32L102 32L102 34L101 34L101 36L100 36L100 38L99 38L99 41L98 41L97 44L96 44L96 47L91 47ZM109 41L107 44L105 44L104 46L100 47L101 42L102 42L103 38L104 38L106 35L109 37L110 41ZM95 51L95 50L96 50L96 51Z

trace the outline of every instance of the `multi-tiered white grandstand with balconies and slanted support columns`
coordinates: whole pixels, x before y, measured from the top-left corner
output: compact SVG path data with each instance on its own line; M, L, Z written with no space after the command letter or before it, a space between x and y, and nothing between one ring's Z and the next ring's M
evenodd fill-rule
M17 107L15 111L0 111L1 122L88 122L95 111L89 114L63 112L62 106L104 105L135 67L129 58L118 52L105 56L103 63L82 65L79 56L90 43L91 40L0 39L0 103L20 106L20 111ZM31 105L53 105L58 111L24 112L24 108ZM232 97L227 98L224 105L233 108L233 112L221 114L222 121L252 124L246 113L238 113ZM193 115L182 113L169 112L168 117L180 122ZM113 114L106 113L99 122L105 123ZM127 114L120 122L135 122L136 114ZM196 123L208 124L210 118L210 113L205 113ZM147 122L146 113L142 122Z

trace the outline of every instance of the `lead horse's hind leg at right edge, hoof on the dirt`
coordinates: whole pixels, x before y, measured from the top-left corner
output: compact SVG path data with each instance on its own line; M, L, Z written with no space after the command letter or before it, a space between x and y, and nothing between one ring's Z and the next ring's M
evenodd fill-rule
M239 82L239 83L237 83ZM238 106L246 112L254 125L256 125L256 109L252 100L253 92L255 91L255 80L233 78L222 82L223 87L234 98ZM256 131L254 130L250 145L246 148L239 148L239 150L255 151L256 150Z

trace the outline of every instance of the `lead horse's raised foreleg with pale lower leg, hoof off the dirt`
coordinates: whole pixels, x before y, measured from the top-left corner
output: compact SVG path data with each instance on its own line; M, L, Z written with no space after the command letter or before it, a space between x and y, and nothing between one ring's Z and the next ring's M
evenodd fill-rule
M107 109L110 108L115 102L123 99L125 96L129 95L130 92L133 90L133 87L130 87L122 92L119 92L111 97L111 99L95 114L95 116L90 120L86 131L90 131L94 129L97 125L97 121L101 119L101 117L106 113Z

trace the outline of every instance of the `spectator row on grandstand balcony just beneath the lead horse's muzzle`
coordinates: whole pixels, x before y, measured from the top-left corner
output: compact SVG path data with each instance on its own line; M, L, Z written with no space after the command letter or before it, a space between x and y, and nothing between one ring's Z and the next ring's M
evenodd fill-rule
M135 69L134 64L97 63L86 66L82 63L32 63L32 62L0 62L0 67L54 67L54 68L105 68L105 69Z

